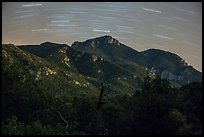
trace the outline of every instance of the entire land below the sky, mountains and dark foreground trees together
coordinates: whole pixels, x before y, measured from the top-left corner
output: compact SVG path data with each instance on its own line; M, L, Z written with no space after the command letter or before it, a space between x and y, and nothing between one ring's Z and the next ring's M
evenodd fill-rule
M201 87L202 73L178 55L111 36L2 44L2 131L202 134Z

